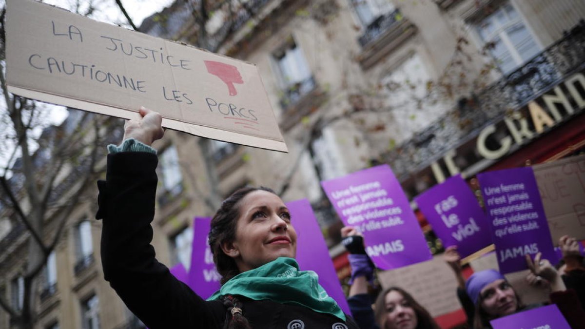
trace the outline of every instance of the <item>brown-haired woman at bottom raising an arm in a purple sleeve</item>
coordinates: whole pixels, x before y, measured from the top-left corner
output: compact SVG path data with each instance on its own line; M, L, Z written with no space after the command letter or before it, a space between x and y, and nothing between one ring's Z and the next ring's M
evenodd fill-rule
M363 237L353 227L342 228L341 235L352 267L347 303L361 329L439 329L431 314L399 287L378 294L374 313L368 294L374 265L364 249Z

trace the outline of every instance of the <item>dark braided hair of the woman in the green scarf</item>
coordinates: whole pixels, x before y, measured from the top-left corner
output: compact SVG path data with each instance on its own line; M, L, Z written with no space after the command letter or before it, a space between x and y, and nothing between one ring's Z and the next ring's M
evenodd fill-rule
M223 200L221 207L219 207L211 220L211 228L207 238L211 252L214 255L215 268L219 275L222 276L220 280L222 285L240 273L236 262L223 252L221 246L225 242L235 240L238 218L240 218L239 203L247 194L253 191L267 191L276 195L273 190L267 187L243 187ZM222 296L221 301L228 309L224 324L225 328L250 328L248 320L242 315L242 303L235 296Z

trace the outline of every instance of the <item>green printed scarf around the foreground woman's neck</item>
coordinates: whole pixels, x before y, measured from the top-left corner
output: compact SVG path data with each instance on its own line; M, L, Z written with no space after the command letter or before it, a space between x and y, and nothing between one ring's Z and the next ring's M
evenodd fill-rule
M259 268L247 270L224 283L207 300L232 294L253 300L272 300L281 304L297 304L319 313L328 313L345 321L345 314L312 270L298 270L293 258L279 257Z

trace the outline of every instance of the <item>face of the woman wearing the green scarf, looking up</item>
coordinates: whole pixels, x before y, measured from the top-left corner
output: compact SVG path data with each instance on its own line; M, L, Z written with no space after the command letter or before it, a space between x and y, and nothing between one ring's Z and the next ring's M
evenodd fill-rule
M278 257L294 258L297 232L283 200L263 190L250 192L239 202L236 238L222 245L240 272L255 269Z

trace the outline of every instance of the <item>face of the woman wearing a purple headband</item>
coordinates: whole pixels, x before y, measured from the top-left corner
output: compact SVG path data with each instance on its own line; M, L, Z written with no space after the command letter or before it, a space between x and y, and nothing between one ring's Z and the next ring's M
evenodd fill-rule
M491 317L510 315L518 308L514 290L504 279L495 280L480 292L481 307Z

